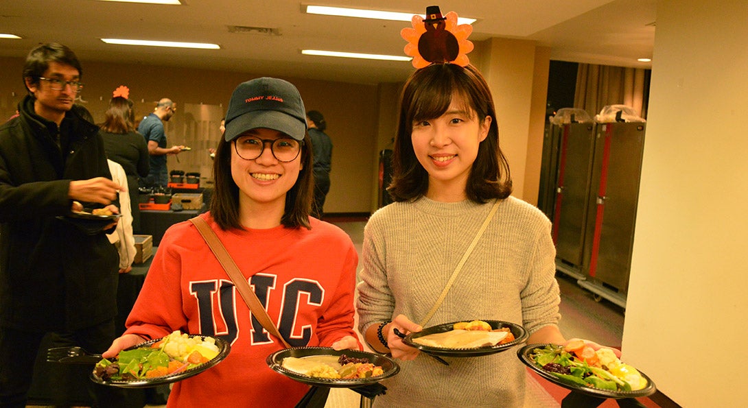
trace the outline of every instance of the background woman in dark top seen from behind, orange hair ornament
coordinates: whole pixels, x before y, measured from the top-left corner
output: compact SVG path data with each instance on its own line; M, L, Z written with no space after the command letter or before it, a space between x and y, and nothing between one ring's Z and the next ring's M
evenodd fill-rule
M116 161L125 170L129 203L132 208L132 230L139 232L141 228L138 188L141 185L138 179L148 176L150 156L143 135L135 131L134 118L135 113L127 90L126 95L114 96L109 101L104 122L99 125L99 135L104 140L107 157Z

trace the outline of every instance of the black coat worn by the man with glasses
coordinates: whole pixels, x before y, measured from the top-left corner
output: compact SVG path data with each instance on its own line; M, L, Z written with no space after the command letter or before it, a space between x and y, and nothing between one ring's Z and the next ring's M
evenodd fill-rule
M70 214L70 181L111 179L98 128L67 112L63 153L32 96L19 113L0 126L0 326L76 330L113 318L117 250L103 232L58 219Z

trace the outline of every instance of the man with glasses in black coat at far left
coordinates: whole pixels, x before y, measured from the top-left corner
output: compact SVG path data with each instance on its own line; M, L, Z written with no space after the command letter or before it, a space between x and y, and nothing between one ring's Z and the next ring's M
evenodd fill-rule
M98 128L71 111L81 75L66 46L31 50L28 96L0 126L0 407L25 406L46 333L94 353L114 339L118 255L105 231L116 220L92 229L66 217L79 203L117 213L123 190L111 181ZM118 404L98 387L99 406Z

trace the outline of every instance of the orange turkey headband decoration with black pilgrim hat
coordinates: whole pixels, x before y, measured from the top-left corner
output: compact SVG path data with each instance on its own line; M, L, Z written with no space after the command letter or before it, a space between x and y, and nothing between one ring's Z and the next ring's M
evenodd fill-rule
M470 64L468 52L473 51L473 43L468 36L473 32L469 24L457 25L457 13L450 11L441 16L439 6L426 7L426 19L419 15L411 19L413 28L400 31L400 37L408 41L405 55L413 57L416 69L431 64L457 64L466 67Z

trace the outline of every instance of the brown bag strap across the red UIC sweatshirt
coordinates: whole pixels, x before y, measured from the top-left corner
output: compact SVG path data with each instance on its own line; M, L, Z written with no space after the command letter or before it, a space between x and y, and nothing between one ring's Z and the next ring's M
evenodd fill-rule
M226 250L226 247L224 247L224 244L221 244L221 240L218 239L218 236L215 235L215 232L212 228L210 228L206 220L203 220L202 217L197 216L191 218L190 221L194 224L195 227L197 227L197 231L200 232L200 235L203 235L203 239L205 239L213 255L215 255L216 259L218 259L218 262L221 262L221 266L224 267L226 274L233 282L236 290L239 291L239 294L242 295L242 299L244 299L245 303L247 303L247 306L249 306L249 310L252 315L254 315L254 317L257 318L257 321L259 321L260 324L265 327L265 330L278 338L278 340L283 343L283 346L285 346L286 348L291 347L286 339L283 339L281 333L278 332L278 327L275 327L275 324L273 324L273 321L270 319L268 312L263 307L263 304L260 303L260 299L257 298L257 294L255 294L252 288L249 286L247 279L245 279L244 275L242 275L242 271L239 271L239 267L236 266L236 262L233 261L228 251Z

